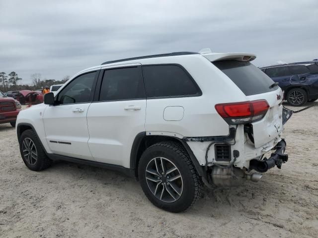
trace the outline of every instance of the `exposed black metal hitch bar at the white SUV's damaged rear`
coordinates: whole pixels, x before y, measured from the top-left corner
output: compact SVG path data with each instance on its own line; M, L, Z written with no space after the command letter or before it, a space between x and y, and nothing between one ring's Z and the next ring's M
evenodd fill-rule
M269 169L275 167L275 165L278 169L280 169L282 167L282 164L288 161L288 155L284 154L286 149L285 140L282 139L280 142L278 142L274 149L276 149L276 151L272 153L268 159L265 158L263 160L251 160L249 162L249 168L254 169L260 173L265 173Z

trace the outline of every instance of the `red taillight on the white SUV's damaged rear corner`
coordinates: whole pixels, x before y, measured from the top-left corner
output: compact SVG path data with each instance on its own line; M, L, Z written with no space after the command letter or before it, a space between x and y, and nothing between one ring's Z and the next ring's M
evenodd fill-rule
M222 103L215 105L218 114L229 124L241 124L262 119L269 105L266 100L240 103Z

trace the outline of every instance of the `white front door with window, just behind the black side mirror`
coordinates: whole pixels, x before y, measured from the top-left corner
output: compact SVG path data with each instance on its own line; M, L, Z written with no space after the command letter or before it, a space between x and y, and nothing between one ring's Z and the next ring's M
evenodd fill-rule
M55 97L56 105L44 111L46 139L54 154L92 160L86 115L97 77L98 70L79 75Z

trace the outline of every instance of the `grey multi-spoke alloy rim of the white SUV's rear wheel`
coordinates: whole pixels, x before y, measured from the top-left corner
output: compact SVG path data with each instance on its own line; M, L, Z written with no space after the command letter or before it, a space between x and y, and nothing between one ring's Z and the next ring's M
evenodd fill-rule
M178 168L168 159L156 157L146 167L146 180L151 192L163 202L175 202L183 191Z

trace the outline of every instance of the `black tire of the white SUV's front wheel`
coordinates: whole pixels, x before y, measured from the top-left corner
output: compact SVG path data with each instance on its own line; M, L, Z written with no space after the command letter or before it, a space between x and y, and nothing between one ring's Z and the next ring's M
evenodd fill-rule
M30 150L23 151L26 149L26 144L29 141L33 142L34 147L31 148L31 152ZM30 170L41 171L51 166L52 160L50 160L45 154L45 151L33 130L29 129L29 130L23 131L19 139L19 144L20 144L20 153L21 153L22 160L24 164L26 165L26 167L28 167ZM33 149L33 154L32 154L32 149ZM30 152L29 154L31 154L31 157L25 156L28 152ZM34 152L36 152L36 160L32 157L32 155L34 155Z

